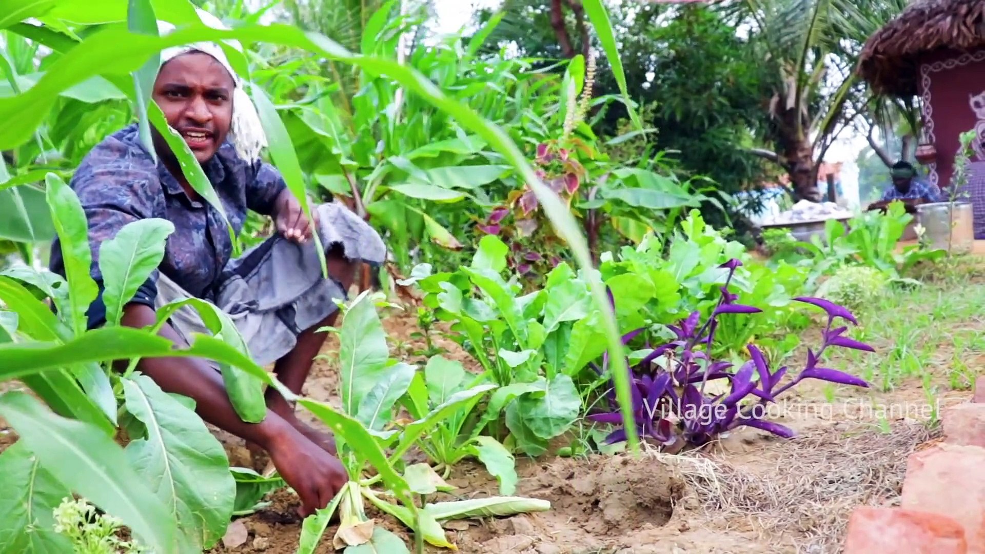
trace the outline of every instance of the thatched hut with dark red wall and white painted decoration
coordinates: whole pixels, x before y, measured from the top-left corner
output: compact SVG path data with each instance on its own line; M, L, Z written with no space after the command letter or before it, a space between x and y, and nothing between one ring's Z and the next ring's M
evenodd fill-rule
M951 184L958 135L978 131L969 191L976 238L985 239L985 0L916 0L869 37L859 73L878 93L920 97L930 180Z

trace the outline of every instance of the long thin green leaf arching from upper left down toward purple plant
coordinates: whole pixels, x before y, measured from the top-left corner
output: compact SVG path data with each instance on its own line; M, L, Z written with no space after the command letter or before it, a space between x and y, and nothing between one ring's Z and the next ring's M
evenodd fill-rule
M586 6L586 13L589 14L593 22L599 20L600 16L601 18L607 19L599 0L592 0L591 7ZM598 29L598 26L596 27ZM611 28L608 31L611 32ZM615 40L610 40L611 38L611 34L607 35L604 45L609 60L613 64L614 71L617 74L617 81L621 81L620 77L624 77L624 75L622 71L616 71L617 69L621 70L622 67L616 55ZM289 25L244 25L228 31L191 25L162 37L135 35L117 30L106 30L91 35L53 62L45 73L45 76L30 90L16 97L0 99L0 121L4 121L5 125L5 132L0 133L0 150L8 150L29 140L33 130L43 119L44 114L48 113L48 108L57 98L56 95L76 83L97 74L105 75L107 73L127 73L133 71L147 61L147 56L167 46L186 44L199 40L225 39L269 41L292 45L324 55L330 59L358 65L362 71L365 71L369 75L385 75L397 81L409 94L419 96L421 100L434 105L444 114L453 117L463 129L478 135L477 138L480 139L478 142L485 141L500 153L517 170L518 178L527 182L534 194L537 195L545 215L550 218L552 225L558 232L558 236L567 242L579 266L585 268L593 266L587 242L580 226L571 216L570 208L534 173L524 153L510 140L505 131L485 120L474 109L449 98L440 88L428 80L427 77L396 60L357 56L323 35L304 33L300 29ZM119 44L122 43L126 43L128 47L121 49ZM624 87L621 84L622 88ZM155 107L156 105L152 104L150 111L160 114L160 109L154 109ZM632 109L629 111L634 119L637 120L637 127L641 128L635 112ZM152 115L153 119L154 116ZM158 122L155 122L155 126L163 131L165 137L167 136L168 129L166 123L159 126ZM461 139L458 140L458 143L458 148L465 146L465 142ZM184 141L179 141L176 148L177 150L182 150L186 146L184 145ZM415 153L415 156L407 155L405 158L412 160L414 157L434 156L440 154L442 149L446 149L449 146L449 144L442 144L438 148L436 143L432 143L425 148L419 149ZM482 148L477 141L473 141L469 146L473 147L474 150L468 152L477 152L479 148ZM172 148L175 147L172 146ZM608 305L608 299L606 298L606 292L602 283L597 278L592 277L589 280L589 284L596 308L602 315L602 319L599 321L600 328L604 331L609 348L611 349L610 354L615 370L613 376L616 381L616 393L619 399L621 413L624 415L626 422L628 450L635 451L638 448L638 437L632 419L630 383L625 375L626 368L624 366L623 344L619 328L616 325L615 315Z

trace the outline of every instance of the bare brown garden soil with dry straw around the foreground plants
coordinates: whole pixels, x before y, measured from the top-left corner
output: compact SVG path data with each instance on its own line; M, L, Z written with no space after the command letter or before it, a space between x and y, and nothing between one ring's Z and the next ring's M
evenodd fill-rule
M410 338L416 330L413 318L392 313L384 325L393 355L414 362L412 353L423 344ZM440 337L435 342L448 350L446 357L475 369L453 342ZM316 361L306 395L337 403L338 378L331 355L336 347L337 341L330 338L324 349L328 356ZM919 384L889 393L868 392L890 405L922 399ZM942 396L941 403L959 402L970 394L952 392ZM852 396L825 402L820 388L801 390L798 400L802 408L819 409L778 418L799 434L789 441L746 429L705 450L678 455L644 448L638 456L518 458L516 494L548 500L551 510L459 521L447 531L448 537L465 553L838 552L852 509L897 502L907 455L936 441L936 432L921 421L878 421ZM889 433L884 432L886 426ZM214 431L231 463L252 464L241 441ZM0 420L0 450L15 440ZM496 494L495 481L471 463L456 466L448 481L458 487L453 498ZM268 500L270 506L230 526L240 538L245 534L244 542L234 548L220 543L212 552L296 552L296 496L281 490ZM372 508L367 513L410 543L407 530L394 519ZM333 552L334 532L334 526L326 530L317 552Z

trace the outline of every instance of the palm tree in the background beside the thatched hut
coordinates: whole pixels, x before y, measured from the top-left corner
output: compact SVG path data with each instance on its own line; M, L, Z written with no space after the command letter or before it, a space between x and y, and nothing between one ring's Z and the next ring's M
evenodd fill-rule
M754 47L774 78L772 125L752 152L779 164L796 198L818 201L817 167L856 117L872 115L872 96L855 71L862 44L906 6L906 0L737 0L721 9Z

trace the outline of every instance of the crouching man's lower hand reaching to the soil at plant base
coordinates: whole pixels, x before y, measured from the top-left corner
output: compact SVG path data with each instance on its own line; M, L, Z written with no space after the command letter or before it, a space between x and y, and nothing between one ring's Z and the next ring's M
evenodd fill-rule
M346 468L338 458L296 430L274 438L267 452L281 477L300 497L301 518L328 506L349 481Z

